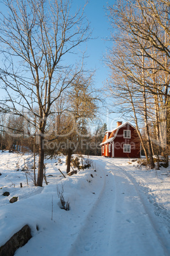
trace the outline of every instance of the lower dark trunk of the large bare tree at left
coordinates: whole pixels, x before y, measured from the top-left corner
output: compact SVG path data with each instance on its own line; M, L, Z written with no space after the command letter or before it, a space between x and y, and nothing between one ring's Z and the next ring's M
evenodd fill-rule
M38 177L36 186L42 187L43 186L43 173L44 173L44 134L41 132L39 134L39 160L38 160Z

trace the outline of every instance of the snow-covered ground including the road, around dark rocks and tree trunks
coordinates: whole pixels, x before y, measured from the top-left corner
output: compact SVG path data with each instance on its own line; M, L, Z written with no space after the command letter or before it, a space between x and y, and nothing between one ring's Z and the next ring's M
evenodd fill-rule
M48 185L41 188L25 174L32 157L0 153L0 246L28 224L32 238L17 256L170 255L170 168L90 160L90 169L66 178L64 156L46 160ZM60 208L57 187L64 188L69 211ZM18 201L11 204L11 197Z

